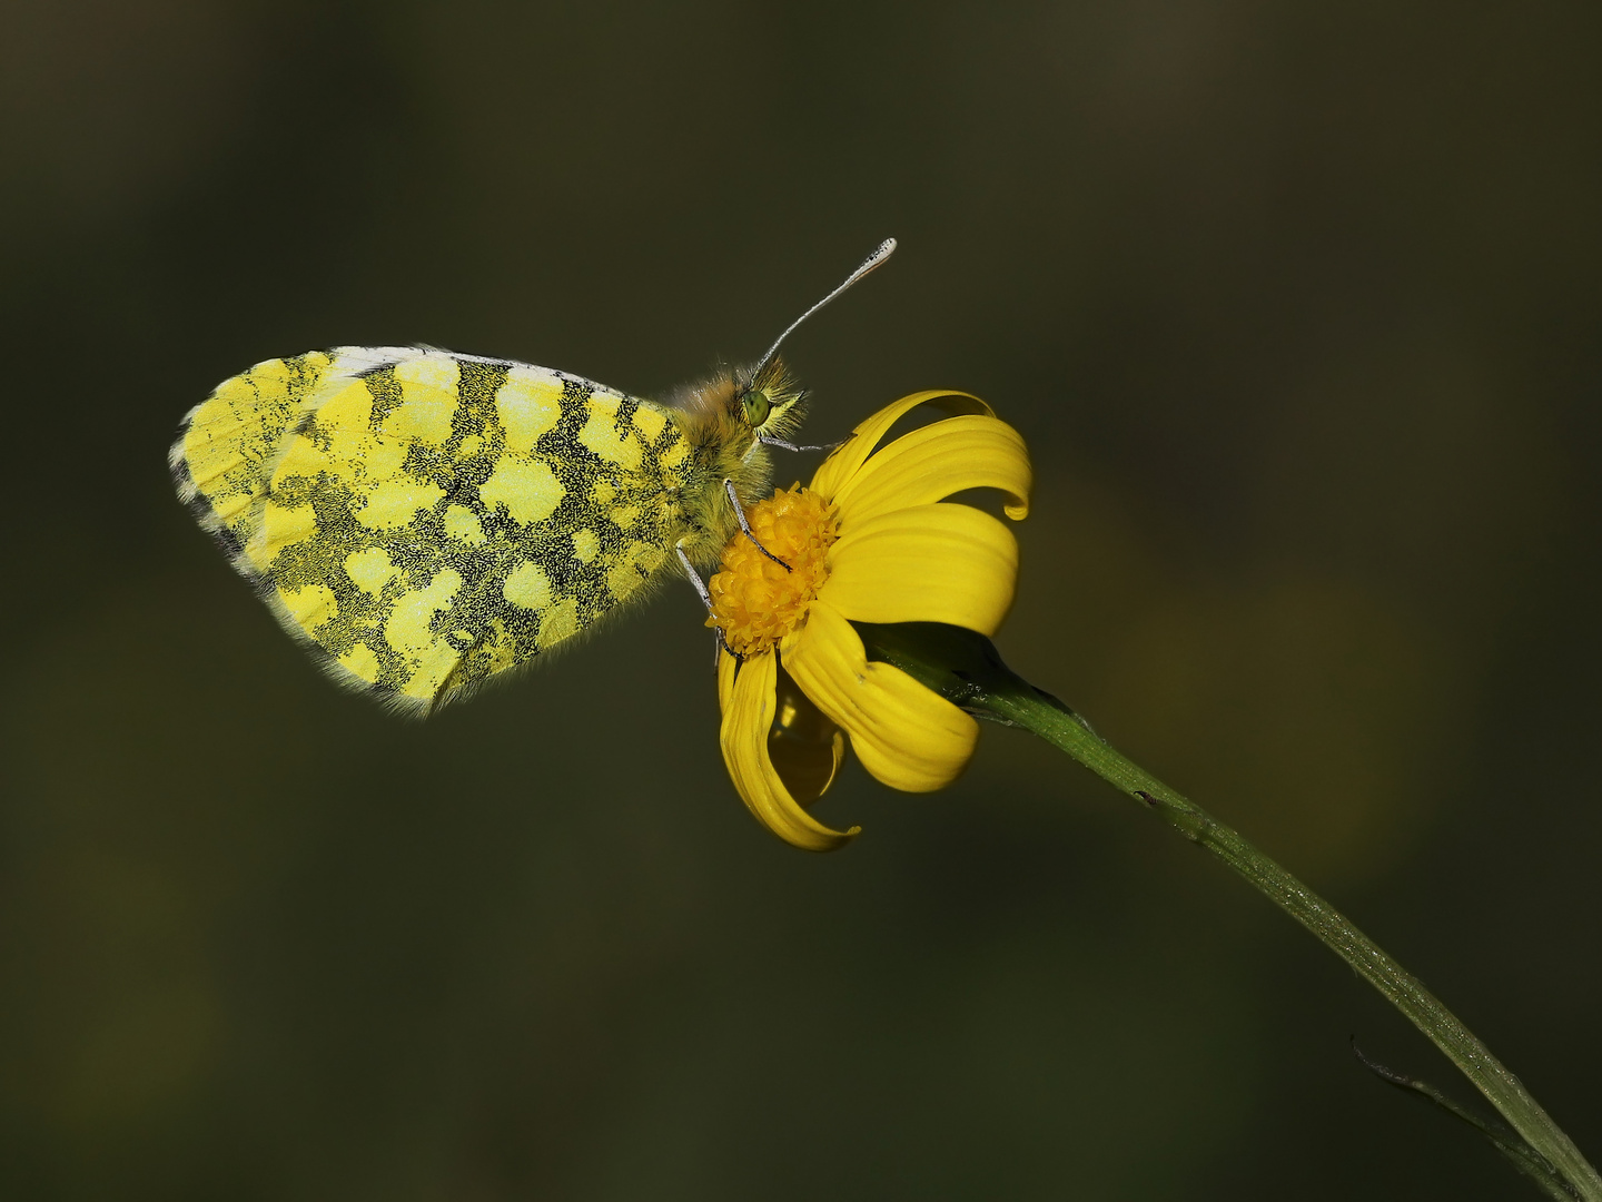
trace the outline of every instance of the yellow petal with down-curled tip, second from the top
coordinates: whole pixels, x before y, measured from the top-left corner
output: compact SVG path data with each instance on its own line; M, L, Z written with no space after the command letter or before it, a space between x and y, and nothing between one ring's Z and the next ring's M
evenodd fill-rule
M871 455L835 494L841 524L908 505L929 505L964 489L1000 489L1006 516L1028 516L1028 452L1006 422L961 415L913 430Z

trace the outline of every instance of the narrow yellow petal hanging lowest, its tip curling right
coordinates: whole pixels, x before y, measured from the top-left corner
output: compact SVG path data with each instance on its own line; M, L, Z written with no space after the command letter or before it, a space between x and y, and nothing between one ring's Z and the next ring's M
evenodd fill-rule
M774 724L774 689L779 662L766 655L718 657L718 700L723 704L723 761L734 787L756 821L785 843L803 851L843 848L860 830L830 830L796 805L767 755L767 732Z

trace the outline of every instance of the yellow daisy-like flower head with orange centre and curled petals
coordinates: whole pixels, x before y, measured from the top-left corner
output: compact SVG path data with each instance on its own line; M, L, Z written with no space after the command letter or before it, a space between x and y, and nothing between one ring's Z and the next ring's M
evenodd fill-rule
M918 405L948 417L884 447ZM902 397L854 431L812 478L748 510L708 588L708 625L735 655L718 659L723 758L747 808L807 851L844 846L803 809L844 758L844 734L875 777L920 793L950 784L977 723L900 668L868 662L851 622L944 622L993 635L1012 604L1017 543L988 513L947 502L1000 489L1008 518L1028 511L1024 439L966 393Z

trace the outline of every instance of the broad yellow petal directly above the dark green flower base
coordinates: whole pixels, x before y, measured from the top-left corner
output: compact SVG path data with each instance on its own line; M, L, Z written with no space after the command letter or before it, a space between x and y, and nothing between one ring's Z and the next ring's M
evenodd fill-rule
M1017 540L971 505L915 505L846 527L828 569L819 599L857 622L945 622L990 636L1012 604Z

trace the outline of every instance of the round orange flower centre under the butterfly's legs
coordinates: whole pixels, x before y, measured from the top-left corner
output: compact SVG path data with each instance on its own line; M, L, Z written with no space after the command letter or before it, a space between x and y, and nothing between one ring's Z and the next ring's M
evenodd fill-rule
M828 579L828 548L839 537L833 506L799 484L775 490L772 500L745 511L756 540L790 566L763 555L745 532L723 550L723 567L706 585L708 627L740 655L772 651L779 639L806 623L812 598Z

